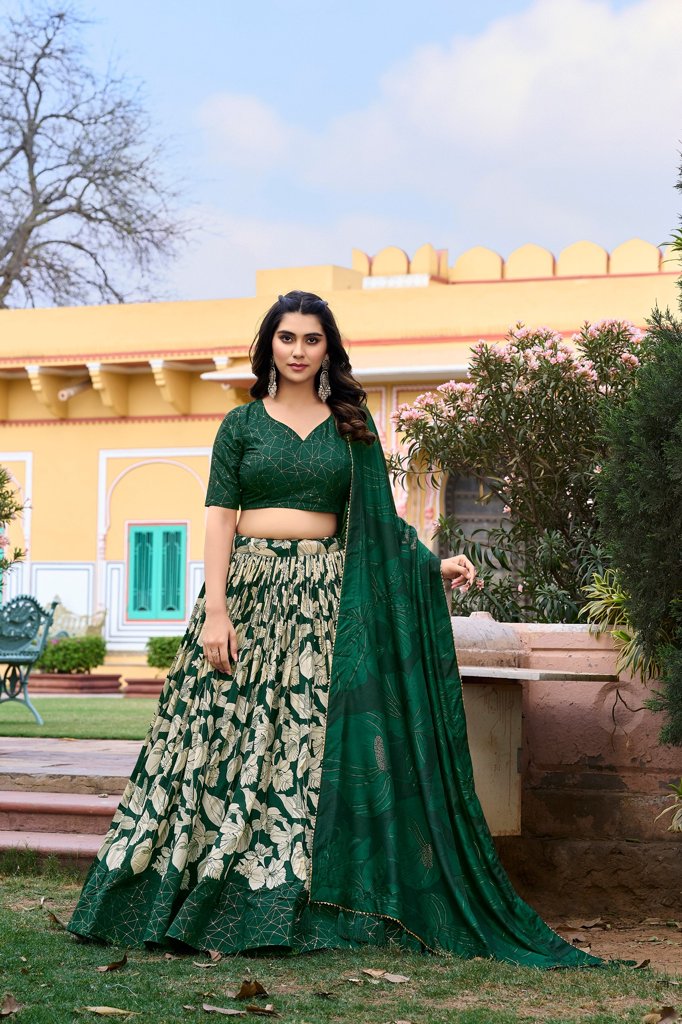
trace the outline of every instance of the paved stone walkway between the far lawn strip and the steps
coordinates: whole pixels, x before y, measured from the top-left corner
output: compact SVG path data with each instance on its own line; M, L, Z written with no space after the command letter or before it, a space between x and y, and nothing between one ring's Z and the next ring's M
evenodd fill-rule
M137 739L0 737L0 790L122 793Z

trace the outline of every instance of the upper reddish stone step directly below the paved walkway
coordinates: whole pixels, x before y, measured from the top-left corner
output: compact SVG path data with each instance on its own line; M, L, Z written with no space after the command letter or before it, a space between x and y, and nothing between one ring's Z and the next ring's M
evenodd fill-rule
M83 793L0 791L0 831L103 836L119 800Z

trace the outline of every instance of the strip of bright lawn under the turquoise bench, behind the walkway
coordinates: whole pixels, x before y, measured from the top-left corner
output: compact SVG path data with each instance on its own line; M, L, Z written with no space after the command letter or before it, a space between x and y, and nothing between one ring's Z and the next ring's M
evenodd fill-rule
M157 701L150 697L33 697L45 725L15 701L0 705L0 736L143 739Z

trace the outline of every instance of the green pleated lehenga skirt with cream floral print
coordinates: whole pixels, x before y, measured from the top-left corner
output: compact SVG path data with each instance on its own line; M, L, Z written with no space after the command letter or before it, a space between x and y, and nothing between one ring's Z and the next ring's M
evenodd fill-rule
M204 657L202 592L70 931L223 953L420 947L391 922L309 902L342 572L336 538L236 538L233 675Z

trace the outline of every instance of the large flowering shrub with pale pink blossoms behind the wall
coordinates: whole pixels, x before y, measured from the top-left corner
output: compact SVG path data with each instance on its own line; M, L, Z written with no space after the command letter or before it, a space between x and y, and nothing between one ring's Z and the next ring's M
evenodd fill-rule
M548 328L512 329L502 345L474 346L466 381L400 406L398 477L474 476L483 501L503 505L499 526L466 537L441 518L438 534L477 563L484 586L455 593L455 610L508 621L578 620L582 588L604 571L595 483L605 458L604 403L622 404L646 358L642 332L621 321L586 324L567 344Z

